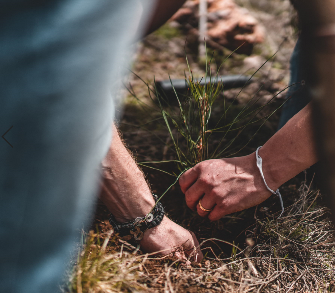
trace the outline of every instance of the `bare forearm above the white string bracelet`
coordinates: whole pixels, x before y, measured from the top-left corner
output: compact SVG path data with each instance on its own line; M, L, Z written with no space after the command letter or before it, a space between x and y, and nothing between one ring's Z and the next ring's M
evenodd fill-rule
M263 159L265 180L273 190L315 164L318 157L311 103L273 135L259 150L259 155Z

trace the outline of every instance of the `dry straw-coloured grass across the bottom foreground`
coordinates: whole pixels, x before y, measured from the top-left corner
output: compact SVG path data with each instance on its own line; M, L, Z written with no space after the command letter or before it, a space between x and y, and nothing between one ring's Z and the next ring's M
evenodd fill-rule
M303 184L296 193L283 218L253 220L248 229L253 237L244 250L233 248L230 257L207 257L201 264L142 254L111 238L108 229L99 235L90 232L66 291L335 292L330 211L310 186Z

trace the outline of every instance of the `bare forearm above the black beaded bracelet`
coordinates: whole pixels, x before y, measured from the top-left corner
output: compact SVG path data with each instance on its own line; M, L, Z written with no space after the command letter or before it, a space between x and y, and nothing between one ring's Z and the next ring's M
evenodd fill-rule
M143 172L125 148L114 124L112 143L102 165L103 186L99 197L109 210L118 211L114 216L120 221L130 221L146 215L155 202Z

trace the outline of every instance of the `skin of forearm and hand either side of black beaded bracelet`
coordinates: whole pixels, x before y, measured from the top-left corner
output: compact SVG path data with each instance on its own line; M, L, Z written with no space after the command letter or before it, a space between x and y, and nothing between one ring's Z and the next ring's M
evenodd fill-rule
M133 221L150 212L155 202L142 171L125 148L116 127L113 125L113 139L107 156L102 162L104 173L100 199L106 204L118 222ZM203 255L193 232L182 228L167 217L160 225L144 232L139 242L145 252L160 251L169 254L175 248L175 256L201 261Z

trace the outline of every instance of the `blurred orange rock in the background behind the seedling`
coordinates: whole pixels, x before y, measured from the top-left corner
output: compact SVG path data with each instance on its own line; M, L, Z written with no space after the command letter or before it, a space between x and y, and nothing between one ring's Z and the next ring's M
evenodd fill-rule
M196 26L198 5L199 1L188 0L172 19ZM246 8L239 7L233 0L208 0L207 9L207 36L210 43L217 43L230 50L245 43L238 52L251 54L254 44L264 41L263 26ZM189 33L194 32L194 29L189 30Z

